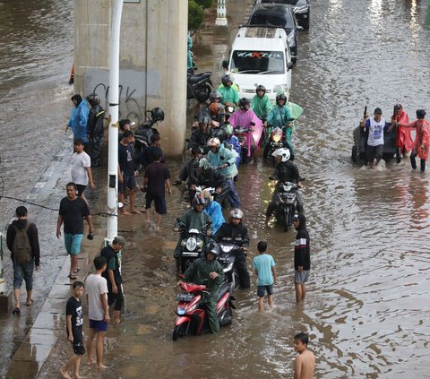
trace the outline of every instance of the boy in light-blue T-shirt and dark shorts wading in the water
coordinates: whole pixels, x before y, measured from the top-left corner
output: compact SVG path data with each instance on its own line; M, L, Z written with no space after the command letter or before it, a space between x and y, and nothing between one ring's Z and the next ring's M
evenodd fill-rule
M267 242L260 241L257 245L259 255L253 260L255 274L258 276L257 296L258 310L264 310L264 294L268 294L269 306L273 306L273 284L278 284L275 261L270 254L266 254Z

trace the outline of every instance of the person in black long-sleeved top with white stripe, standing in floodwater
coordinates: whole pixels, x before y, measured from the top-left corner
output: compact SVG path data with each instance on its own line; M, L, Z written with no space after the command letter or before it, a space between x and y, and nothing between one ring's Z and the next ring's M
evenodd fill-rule
M309 233L306 230L306 218L303 213L295 214L293 226L297 230L294 243L294 286L296 288L297 303L305 300L306 281L311 270L311 248Z

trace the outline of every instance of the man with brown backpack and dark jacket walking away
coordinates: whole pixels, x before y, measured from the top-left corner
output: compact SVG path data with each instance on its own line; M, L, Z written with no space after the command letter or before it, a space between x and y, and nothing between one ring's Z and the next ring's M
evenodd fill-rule
M40 249L38 228L27 220L28 211L24 206L16 209L16 217L12 224L7 228L6 245L11 251L13 262L13 298L14 315L21 314L20 294L22 280L25 280L27 290L26 306L31 306L33 299L31 293L33 289L33 271L40 267Z

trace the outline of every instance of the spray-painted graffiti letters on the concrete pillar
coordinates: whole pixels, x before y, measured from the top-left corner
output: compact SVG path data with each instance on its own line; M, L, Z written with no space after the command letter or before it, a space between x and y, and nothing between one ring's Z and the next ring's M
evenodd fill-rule
M142 124L145 120L145 113L138 101L133 98L133 94L136 89L132 89L129 86L124 89L120 84L118 87L119 97L119 108L118 108L118 119L129 118L135 120L137 125ZM100 105L107 109L109 105L109 86L103 82L100 82L92 90L93 93L97 93L100 98ZM123 92L125 92L123 94Z

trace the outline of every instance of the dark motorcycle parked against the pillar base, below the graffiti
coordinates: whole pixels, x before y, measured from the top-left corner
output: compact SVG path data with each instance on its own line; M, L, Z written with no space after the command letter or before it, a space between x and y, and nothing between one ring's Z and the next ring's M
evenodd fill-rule
M160 110L161 113L156 110ZM153 108L145 112L145 117L145 122L134 132L133 163L137 170L142 166L143 151L150 145L150 137L152 134L159 134L153 125L164 120L164 112L159 108Z

